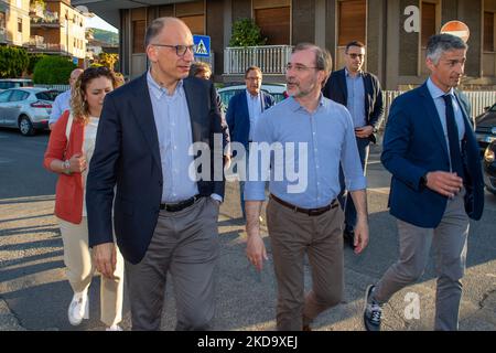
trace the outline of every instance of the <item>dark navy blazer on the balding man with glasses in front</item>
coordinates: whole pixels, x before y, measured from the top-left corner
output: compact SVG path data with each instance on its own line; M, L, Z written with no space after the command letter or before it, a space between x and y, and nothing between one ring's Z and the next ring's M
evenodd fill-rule
M211 146L222 133L216 92L211 82L184 79L193 142ZM197 157L197 156L196 156ZM222 164L222 153L216 153ZM211 163L212 175L214 163ZM185 178L186 178L186 171ZM144 256L155 229L162 199L162 165L147 75L126 84L105 98L87 183L89 246L112 242L111 210L117 244L132 264ZM198 181L200 193L224 196L222 181Z

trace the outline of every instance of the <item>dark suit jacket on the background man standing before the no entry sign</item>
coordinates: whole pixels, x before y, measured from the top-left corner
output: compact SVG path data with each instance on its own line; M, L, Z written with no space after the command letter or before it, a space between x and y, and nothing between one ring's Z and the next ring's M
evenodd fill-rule
M384 113L382 90L379 79L370 73L363 73L365 88L365 118L367 125L378 129L381 124ZM331 74L323 89L324 97L337 101L346 107L348 101L348 90L346 88L345 69L335 71ZM370 136L375 143L375 135Z

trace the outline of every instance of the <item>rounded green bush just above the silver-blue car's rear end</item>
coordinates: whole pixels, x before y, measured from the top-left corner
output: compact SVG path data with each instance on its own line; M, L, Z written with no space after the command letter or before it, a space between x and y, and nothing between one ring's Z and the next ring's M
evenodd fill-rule
M34 66L33 82L45 85L67 84L71 72L76 65L66 56L47 55Z

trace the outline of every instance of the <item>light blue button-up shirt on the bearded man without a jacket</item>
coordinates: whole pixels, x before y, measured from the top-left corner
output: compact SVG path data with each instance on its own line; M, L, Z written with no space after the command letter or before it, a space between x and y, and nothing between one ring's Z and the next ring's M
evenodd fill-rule
M257 122L254 141L268 142L273 147L269 190L293 205L317 208L336 199L341 191L339 162L347 190L357 191L367 186L352 117L344 106L322 95L314 113L309 113L293 97L263 111ZM290 152L291 145L294 145L294 153ZM257 156L262 153L255 150L257 143L252 143L251 148L245 200L263 201L263 176L268 175L252 172ZM277 158L278 154L283 159ZM259 170L267 172L268 165L263 168L260 163ZM281 169L284 170L282 178ZM300 173L299 180L291 173L293 170ZM304 188L299 188L299 183Z

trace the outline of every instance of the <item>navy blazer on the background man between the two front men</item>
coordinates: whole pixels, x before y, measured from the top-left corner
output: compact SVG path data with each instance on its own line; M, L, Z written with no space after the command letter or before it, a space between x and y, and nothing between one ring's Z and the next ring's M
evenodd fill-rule
M274 99L271 95L260 90L262 98L262 110L266 110L274 105ZM246 98L246 89L236 94L230 98L229 106L226 114L227 126L229 127L230 141L239 142L248 148L248 137L250 133L250 115L248 111L248 103Z

